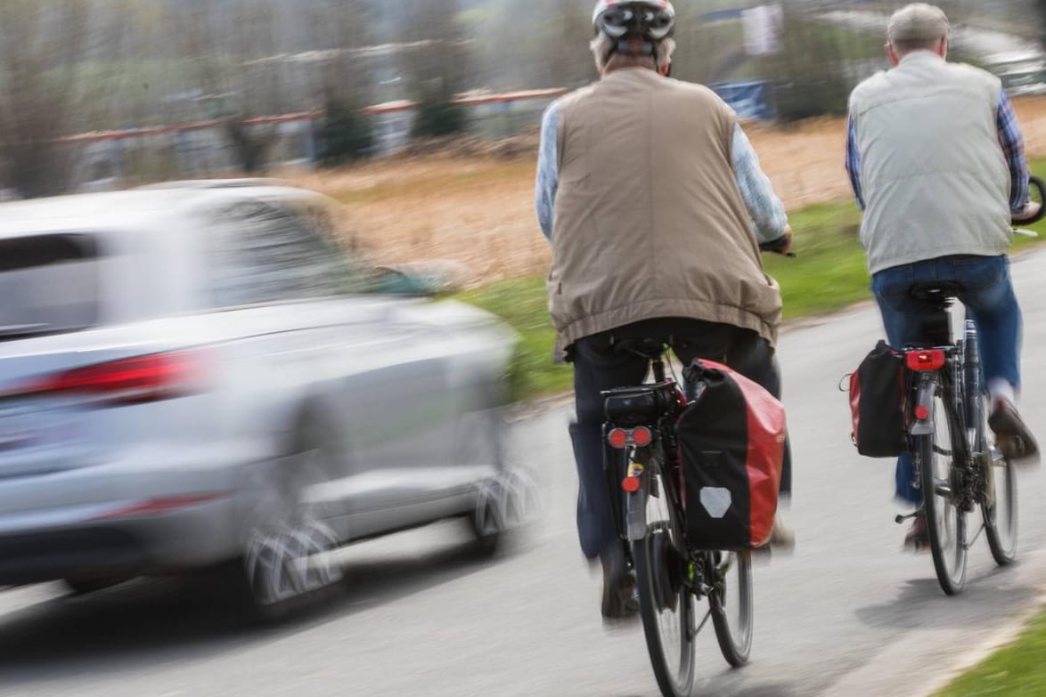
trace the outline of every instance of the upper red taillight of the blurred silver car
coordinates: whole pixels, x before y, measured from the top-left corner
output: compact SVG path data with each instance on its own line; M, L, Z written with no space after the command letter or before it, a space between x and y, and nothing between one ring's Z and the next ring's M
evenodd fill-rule
M189 351L123 358L48 376L20 396L82 395L109 404L139 404L181 397L199 387L201 361Z

